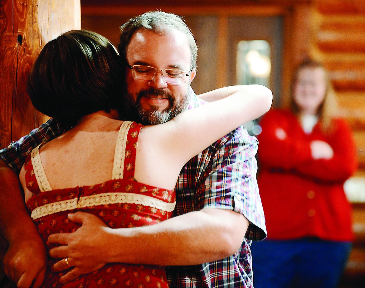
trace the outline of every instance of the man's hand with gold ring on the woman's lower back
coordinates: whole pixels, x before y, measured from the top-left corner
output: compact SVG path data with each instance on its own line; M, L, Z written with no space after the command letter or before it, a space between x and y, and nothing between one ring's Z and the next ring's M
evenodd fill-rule
M98 217L85 212L76 212L70 213L68 218L82 226L73 233L56 233L48 237L49 243L62 245L50 250L51 257L62 258L52 266L52 270L59 272L69 269L65 258L68 258L70 267L73 267L59 278L61 284L102 268L108 262L104 261L102 256L107 255L107 251L111 248L107 244L106 232L110 228Z

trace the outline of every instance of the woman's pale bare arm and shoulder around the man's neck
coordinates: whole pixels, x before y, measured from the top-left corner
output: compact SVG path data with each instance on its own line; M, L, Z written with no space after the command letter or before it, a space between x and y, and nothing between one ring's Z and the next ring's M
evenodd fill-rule
M267 87L244 85L231 89L233 93L223 99L184 111L164 124L143 127L138 140L135 179L173 189L189 159L270 109L272 92Z

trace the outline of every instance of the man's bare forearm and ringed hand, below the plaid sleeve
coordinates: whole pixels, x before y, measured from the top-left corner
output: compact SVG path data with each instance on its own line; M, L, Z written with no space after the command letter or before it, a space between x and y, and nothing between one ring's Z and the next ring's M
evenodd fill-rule
M68 257L69 264L77 266L61 277L60 283L110 262L195 265L226 258L237 252L249 225L242 214L210 208L135 228L111 229L83 212L71 214L70 220L82 226L74 233L49 236L50 243L67 244L51 249L50 256ZM61 271L68 267L62 259L53 268Z

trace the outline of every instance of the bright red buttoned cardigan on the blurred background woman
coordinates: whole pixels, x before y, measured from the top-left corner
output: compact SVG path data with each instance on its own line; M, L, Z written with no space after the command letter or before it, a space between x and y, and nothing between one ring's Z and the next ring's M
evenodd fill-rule
M318 123L305 134L289 111L270 110L262 117L258 186L268 239L353 240L351 205L343 183L357 170L356 146L345 120L334 121L330 135L324 135ZM277 128L286 132L284 139L276 136ZM313 140L330 144L334 157L314 160Z

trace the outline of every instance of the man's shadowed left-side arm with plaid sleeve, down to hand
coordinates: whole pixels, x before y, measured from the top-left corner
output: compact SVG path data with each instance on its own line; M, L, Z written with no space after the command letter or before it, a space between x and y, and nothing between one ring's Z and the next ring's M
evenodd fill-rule
M56 120L50 119L0 150L0 232L8 243L3 258L4 272L20 288L41 286L46 271L46 250L27 212L17 173L34 147L63 131Z

